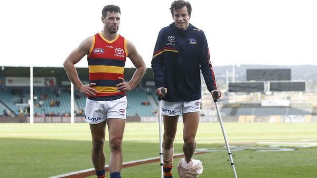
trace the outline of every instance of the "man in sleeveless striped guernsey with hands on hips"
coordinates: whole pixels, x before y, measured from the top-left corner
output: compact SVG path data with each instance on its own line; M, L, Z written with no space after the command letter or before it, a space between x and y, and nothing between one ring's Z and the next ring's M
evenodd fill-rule
M125 91L134 89L145 74L145 63L135 46L117 32L120 25L120 8L107 5L102 9L103 31L84 39L64 62L65 71L76 89L87 95L86 122L90 124L93 147L92 160L98 178L105 177L103 144L108 124L111 178L121 178L121 142L126 119ZM83 85L75 64L87 55L89 84ZM126 57L137 68L129 83L123 79Z

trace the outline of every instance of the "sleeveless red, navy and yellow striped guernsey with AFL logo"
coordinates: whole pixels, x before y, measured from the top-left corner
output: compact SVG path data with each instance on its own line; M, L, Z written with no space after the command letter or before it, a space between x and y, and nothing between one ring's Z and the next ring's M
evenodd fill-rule
M119 77L123 78L124 65L128 55L126 39L118 36L109 41L101 33L93 36L93 45L87 56L89 83L96 83L96 96L88 96L91 100L109 101L125 96L119 91Z

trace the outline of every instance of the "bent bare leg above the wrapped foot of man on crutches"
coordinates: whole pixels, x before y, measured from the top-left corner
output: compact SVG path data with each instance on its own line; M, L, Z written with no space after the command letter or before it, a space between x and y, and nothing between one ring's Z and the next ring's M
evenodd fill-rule
M199 123L199 112L189 112L183 114L184 131L183 131L183 151L185 160L189 163L196 149L196 133Z

